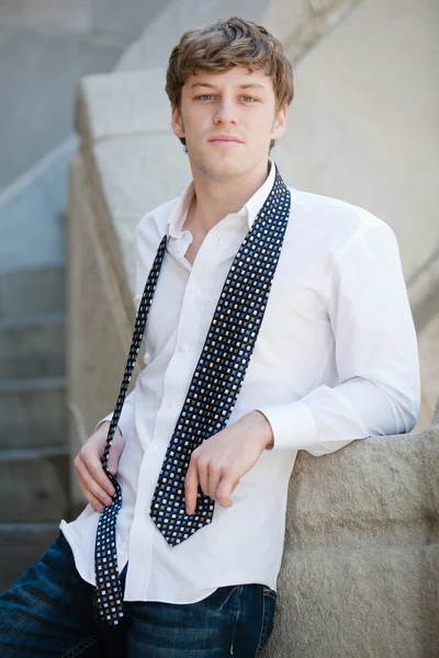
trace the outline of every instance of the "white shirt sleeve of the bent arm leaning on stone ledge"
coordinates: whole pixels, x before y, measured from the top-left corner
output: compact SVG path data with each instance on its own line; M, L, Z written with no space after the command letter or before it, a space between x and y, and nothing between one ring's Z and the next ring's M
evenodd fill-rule
M324 455L356 439L409 432L419 415L418 345L393 230L384 223L362 230L328 276L338 385L258 408L272 450Z

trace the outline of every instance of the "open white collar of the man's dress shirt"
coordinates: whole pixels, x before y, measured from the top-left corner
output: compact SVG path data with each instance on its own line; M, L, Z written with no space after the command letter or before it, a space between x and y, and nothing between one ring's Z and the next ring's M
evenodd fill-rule
M248 223L248 229L251 229L251 226L256 219L257 214L262 207L266 198L271 192L271 188L274 184L275 178L275 166L273 160L269 158L270 171L262 183L262 185L255 192L252 196L244 204L244 206L237 213L234 213L237 216L244 216ZM173 208L167 225L168 239L179 239L184 237L190 237L190 232L187 230L181 230L184 220L188 215L189 207L191 205L192 198L194 195L194 186L193 181L189 183L182 194L178 197L178 202L176 207ZM192 241L192 240L191 240Z

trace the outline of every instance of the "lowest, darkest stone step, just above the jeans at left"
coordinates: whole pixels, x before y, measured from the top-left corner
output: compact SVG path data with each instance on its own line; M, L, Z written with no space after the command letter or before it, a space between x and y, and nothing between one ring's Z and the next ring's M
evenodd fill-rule
M9 589L55 542L58 523L0 523L0 592Z

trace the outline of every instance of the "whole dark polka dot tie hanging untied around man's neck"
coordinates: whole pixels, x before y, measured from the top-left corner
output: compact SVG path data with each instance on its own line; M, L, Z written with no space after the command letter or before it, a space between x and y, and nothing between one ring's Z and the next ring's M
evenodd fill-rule
M196 510L185 513L184 478L192 452L223 430L236 404L262 322L290 215L290 192L278 168L269 196L244 239L227 274L207 337L189 386L183 408L168 444L150 504L150 517L170 546L180 544L212 522L214 500L199 487ZM111 507L104 508L95 542L95 605L101 621L112 626L123 617L117 575L116 518L121 487L108 458L166 249L162 238L138 308L130 355L109 428L102 467L114 485Z

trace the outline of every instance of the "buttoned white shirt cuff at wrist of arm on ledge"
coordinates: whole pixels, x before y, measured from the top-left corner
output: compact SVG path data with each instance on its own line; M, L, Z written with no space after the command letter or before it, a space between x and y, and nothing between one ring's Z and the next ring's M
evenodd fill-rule
M317 441L317 424L309 407L304 402L286 402L258 407L273 432L271 450L306 450Z

